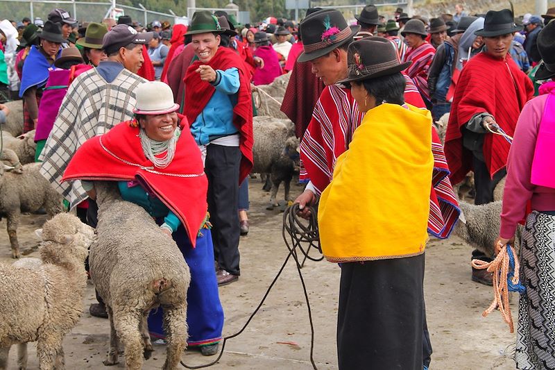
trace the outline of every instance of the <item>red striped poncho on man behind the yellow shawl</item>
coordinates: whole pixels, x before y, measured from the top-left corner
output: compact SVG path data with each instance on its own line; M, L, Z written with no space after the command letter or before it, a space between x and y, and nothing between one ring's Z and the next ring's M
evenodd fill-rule
M414 85L407 83L405 100L414 99ZM287 94L286 94L287 96ZM425 108L420 98L420 106ZM318 193L330 184L336 159L345 150L352 134L359 126L363 114L350 90L339 85L325 87L314 108L314 115L300 142L300 180L311 180ZM432 153L434 154L434 174L430 185L430 211L428 232L436 237L446 238L459 218L453 188L447 178L449 169L443 153L441 141L432 127Z

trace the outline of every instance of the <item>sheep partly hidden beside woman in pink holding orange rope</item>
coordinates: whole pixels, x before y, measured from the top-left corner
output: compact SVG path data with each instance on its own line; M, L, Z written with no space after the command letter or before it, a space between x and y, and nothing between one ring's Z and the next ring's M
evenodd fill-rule
M454 235L461 237L472 248L484 252L488 257L493 257L493 245L501 227L502 202L474 205L461 201L459 207L462 216L454 228ZM520 251L521 230L522 226L519 226L515 236L516 253Z

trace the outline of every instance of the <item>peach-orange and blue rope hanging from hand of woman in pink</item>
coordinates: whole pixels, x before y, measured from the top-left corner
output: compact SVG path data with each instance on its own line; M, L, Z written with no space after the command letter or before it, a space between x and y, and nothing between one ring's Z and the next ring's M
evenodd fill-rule
M501 251L492 262L472 260L472 267L475 269L487 269L493 273L493 301L490 306L482 313L483 317L488 316L495 308L501 312L503 320L509 325L509 331L514 333L513 315L509 306L509 292L526 291L520 283L519 271L520 264L515 258L513 249L509 244L503 246Z

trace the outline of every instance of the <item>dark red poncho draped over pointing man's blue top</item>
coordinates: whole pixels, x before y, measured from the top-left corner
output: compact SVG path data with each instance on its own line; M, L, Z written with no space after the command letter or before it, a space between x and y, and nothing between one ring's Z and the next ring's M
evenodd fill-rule
M202 81L200 74L196 72L198 67L203 64L200 60L196 60L189 66L187 74L185 74L185 86L187 87L185 89L185 115L189 119L189 124L193 124L216 91L210 83ZM241 57L232 49L225 47L218 48L207 65L213 69L237 68L239 70L240 85L239 92L237 92L237 104L233 108L233 124L241 134L239 149L241 149L243 157L239 168L239 183L242 183L250 173L250 169L253 168L253 100L249 74L245 70Z

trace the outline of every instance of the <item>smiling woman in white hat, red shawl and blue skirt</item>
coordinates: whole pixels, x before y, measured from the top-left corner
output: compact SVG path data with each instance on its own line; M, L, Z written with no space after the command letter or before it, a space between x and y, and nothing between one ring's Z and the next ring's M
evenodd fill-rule
M176 112L179 104L173 103L168 85L143 83L136 94L135 119L87 140L62 180L116 180L123 200L149 212L160 225L160 237L173 237L191 270L188 346L214 355L221 340L223 310L208 228L203 160L187 118ZM90 181L83 181L83 187L96 198ZM149 315L148 328L151 337L165 338L162 310Z

